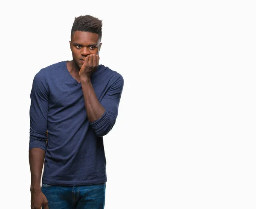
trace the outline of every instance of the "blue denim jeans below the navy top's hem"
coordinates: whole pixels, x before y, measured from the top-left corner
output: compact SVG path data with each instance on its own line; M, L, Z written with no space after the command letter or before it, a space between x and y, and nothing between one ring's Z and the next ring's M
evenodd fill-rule
M104 209L106 184L53 186L42 183L49 209ZM42 207L44 209L44 207Z

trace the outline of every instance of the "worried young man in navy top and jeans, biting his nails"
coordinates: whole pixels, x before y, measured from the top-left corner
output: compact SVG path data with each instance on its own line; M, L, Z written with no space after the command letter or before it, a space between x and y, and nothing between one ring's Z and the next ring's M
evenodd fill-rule
M124 81L99 65L101 37L102 20L76 17L70 41L73 60L35 75L30 95L32 209L104 208L103 136L115 124Z

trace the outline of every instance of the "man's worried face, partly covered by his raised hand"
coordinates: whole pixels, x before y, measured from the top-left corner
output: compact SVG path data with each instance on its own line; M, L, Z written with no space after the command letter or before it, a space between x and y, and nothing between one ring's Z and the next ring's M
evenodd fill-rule
M71 37L70 49L73 56L73 62L81 69L83 58L90 54L99 54L100 43L99 35L92 32L76 31Z

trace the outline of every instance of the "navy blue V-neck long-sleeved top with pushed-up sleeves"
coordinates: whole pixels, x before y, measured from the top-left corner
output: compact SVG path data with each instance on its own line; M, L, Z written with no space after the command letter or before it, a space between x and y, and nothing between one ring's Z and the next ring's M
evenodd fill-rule
M90 123L81 83L67 70L67 61L35 75L30 94L29 150L46 151L43 183L81 186L107 181L103 136L115 124L124 80L99 65L91 82L105 113Z

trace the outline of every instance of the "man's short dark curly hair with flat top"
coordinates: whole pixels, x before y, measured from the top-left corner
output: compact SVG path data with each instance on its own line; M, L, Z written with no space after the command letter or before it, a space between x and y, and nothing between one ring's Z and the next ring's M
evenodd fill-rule
M71 29L71 38L76 31L97 33L99 35L99 40L101 40L102 20L99 20L91 15L81 15L79 17L75 17L75 21Z

